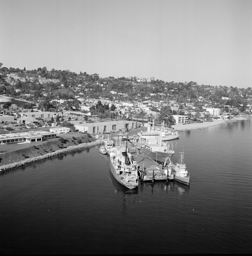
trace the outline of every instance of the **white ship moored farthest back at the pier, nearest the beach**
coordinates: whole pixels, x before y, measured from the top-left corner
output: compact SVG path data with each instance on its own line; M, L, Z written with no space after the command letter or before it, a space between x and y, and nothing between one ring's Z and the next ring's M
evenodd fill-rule
M152 129L150 129L150 123L148 123L147 131L146 132L140 131L138 133L138 135L141 138L144 138L146 140L150 140L150 139L160 140L160 137L162 136L163 141L174 140L174 139L178 139L180 137L180 134L177 130L175 130L171 127L165 128L164 123L162 123L161 129L159 129L157 127L155 128L154 120L153 120Z

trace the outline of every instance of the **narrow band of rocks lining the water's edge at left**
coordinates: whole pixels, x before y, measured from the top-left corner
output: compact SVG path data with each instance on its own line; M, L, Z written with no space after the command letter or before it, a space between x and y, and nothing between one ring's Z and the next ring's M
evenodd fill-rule
M22 160L22 161L19 161L19 162L6 164L6 165L3 165L3 166L0 166L0 174L8 172L9 170L12 170L14 168L18 168L18 167L28 165L28 164L31 164L31 163L34 163L34 162L39 162L41 160L57 157L57 156L60 156L60 155L64 155L64 154L70 153L72 151L84 150L87 147L100 145L102 143L103 143L103 140L99 139L99 140L96 140L96 141L93 141L93 142L82 143L82 144L74 145L74 146L68 146L67 148L63 148L62 150L57 150L55 152L47 153L47 154L42 155L42 156L37 156L37 157L29 158L29 159L26 159L26 160Z

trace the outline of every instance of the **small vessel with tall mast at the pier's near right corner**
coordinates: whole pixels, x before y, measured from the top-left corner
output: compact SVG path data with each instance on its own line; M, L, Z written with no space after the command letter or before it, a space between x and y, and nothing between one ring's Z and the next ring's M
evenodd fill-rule
M184 152L180 152L180 160L173 164L174 180L189 185L190 175L184 164Z

